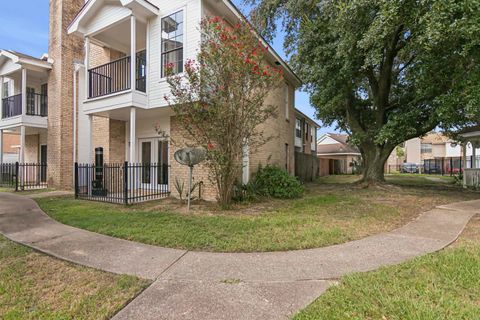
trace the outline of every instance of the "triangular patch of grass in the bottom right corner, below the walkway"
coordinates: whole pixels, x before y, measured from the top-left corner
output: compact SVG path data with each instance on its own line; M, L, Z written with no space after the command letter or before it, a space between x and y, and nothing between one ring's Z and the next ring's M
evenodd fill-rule
M479 319L480 217L441 252L344 277L294 320Z

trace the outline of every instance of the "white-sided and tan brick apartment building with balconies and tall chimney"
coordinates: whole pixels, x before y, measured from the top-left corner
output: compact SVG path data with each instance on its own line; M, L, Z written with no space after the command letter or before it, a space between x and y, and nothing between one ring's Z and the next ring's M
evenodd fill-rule
M199 23L214 15L232 24L242 18L228 0L51 0L48 56L0 56L0 77L8 88L2 90L7 100L0 133L20 134L21 162L48 160L52 187L71 189L74 163L92 163L95 148L102 147L108 163L169 167L162 177L145 171L138 184L165 185L175 195L174 179L186 180L188 169L173 154L188 141L164 100L164 66L174 63L181 72L187 59L196 58ZM268 62L283 69L285 85L266 101L279 110L264 124L274 138L255 153L247 151L243 182L259 165L294 174L294 97L301 82L272 48L268 52ZM307 153L315 150L316 130L314 122L305 123ZM215 187L202 166L194 180L204 183L203 197L214 200Z

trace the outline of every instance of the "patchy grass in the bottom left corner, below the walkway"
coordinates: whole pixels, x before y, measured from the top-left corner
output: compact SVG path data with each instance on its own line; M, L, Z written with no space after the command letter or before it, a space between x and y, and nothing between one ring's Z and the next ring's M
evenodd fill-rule
M57 260L0 236L0 319L109 319L148 285Z

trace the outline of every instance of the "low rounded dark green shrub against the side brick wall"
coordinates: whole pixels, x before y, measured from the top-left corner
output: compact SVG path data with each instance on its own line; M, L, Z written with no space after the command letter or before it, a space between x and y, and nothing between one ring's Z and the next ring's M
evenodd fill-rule
M299 198L305 191L296 177L276 166L259 168L249 184L257 194L279 199Z

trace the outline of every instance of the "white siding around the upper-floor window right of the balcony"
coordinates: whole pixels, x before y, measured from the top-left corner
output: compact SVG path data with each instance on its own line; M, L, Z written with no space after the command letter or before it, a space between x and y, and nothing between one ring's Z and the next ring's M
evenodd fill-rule
M161 79L161 19L163 16L174 13L178 10L184 10L184 45L183 59L196 59L200 49L200 21L201 4L200 0L184 1L151 1L159 7L160 16L150 20L150 41L148 50L148 96L149 106L151 108L167 106L165 95L170 93L170 88L165 79Z

